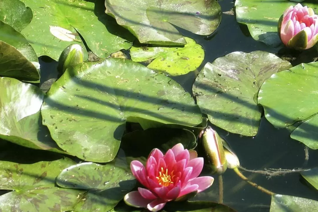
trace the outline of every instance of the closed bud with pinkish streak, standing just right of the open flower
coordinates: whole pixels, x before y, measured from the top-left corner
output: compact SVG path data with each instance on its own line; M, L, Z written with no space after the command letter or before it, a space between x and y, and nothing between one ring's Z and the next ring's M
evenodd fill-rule
M208 126L203 133L203 147L217 174L223 174L227 168L222 138Z

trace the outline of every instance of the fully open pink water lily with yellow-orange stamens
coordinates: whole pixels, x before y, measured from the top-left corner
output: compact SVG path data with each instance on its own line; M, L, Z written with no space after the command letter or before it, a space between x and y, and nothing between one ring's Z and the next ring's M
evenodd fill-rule
M166 202L182 198L192 192L209 188L211 176L198 177L203 168L203 158L196 151L184 149L181 143L162 154L159 149L150 153L146 167L132 161L130 168L135 178L145 187L125 195L126 204L158 211Z

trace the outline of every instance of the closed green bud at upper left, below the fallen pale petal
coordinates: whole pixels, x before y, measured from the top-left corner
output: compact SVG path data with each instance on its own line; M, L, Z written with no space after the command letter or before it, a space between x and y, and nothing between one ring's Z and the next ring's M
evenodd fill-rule
M58 71L63 74L68 67L84 61L83 49L79 44L67 46L59 57Z

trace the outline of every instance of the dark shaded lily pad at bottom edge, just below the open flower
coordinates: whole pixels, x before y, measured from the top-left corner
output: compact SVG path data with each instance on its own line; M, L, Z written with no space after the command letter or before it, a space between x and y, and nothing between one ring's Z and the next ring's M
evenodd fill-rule
M216 202L208 201L186 201L168 202L163 208L164 212L236 212L236 210Z

